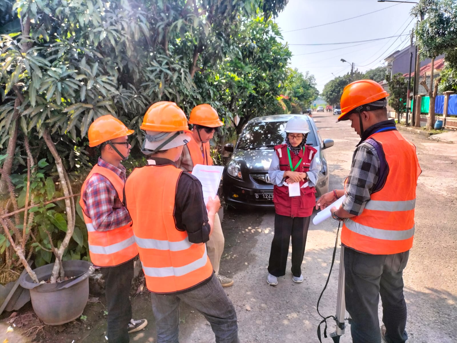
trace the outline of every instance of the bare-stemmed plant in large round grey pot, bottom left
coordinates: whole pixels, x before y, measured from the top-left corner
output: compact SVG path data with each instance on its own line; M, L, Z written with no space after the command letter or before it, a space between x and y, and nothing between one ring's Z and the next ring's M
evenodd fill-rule
M43 173L40 173L38 168L47 165L47 162L41 160L38 165L35 165L26 138L27 183L25 199L23 200L24 207L19 208L11 177L5 174L2 168L2 177L7 180L10 198L5 209L0 209L0 225L18 260L27 271L21 277L20 283L22 287L30 290L35 313L45 324L60 325L81 316L89 297L88 277L93 273L94 268L92 263L88 261L62 260L70 239L74 235L75 195L72 193L68 175L47 130L43 133L43 139L54 157L58 172L58 183L64 196L44 201L43 196L37 197L31 192L31 186L33 186L32 188L37 188L37 181L31 184L31 176L43 180ZM52 198L55 193L54 182L48 178L43 183L45 184L48 198ZM35 214L40 215L43 213L49 216L48 212L53 211L51 208L55 206L53 203L59 200L64 200L65 202L66 220L63 215L53 213L52 221L54 225L61 226L60 229L66 231L64 239L56 247L51 233L48 230L42 230L39 234L47 235L48 240L44 240L46 244L41 244L36 237L37 231L34 228L34 224L36 224L33 221L34 216ZM13 210L10 213L5 213L8 208ZM55 257L55 262L32 269L28 260L32 255L33 248L48 251L49 255L52 253Z

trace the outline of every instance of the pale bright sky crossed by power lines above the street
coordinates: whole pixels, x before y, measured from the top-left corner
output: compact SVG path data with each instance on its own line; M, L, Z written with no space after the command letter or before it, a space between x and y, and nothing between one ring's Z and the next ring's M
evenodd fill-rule
M355 63L354 69L365 72L385 65L384 59L388 55L408 46L409 35L416 23L410 15L414 5L377 0L289 0L275 21L281 29L284 43L289 44L292 52L290 66L303 74L307 71L313 74L317 88L322 92L324 85L335 78L334 75L351 72L351 63ZM373 11L377 12L360 16ZM355 16L360 17L316 27ZM400 34L404 36L360 42ZM327 43L345 44L295 45Z

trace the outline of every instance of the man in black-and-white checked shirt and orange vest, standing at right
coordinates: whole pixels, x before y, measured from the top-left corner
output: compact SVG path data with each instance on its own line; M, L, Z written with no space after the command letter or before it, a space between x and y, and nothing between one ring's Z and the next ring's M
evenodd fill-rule
M361 137L345 188L325 193L316 208L345 194L330 209L343 222L345 301L354 343L402 343L408 339L403 269L414 236L414 204L420 166L416 148L388 120L387 92L373 80L345 87L338 121L350 120ZM377 307L383 304L379 328Z

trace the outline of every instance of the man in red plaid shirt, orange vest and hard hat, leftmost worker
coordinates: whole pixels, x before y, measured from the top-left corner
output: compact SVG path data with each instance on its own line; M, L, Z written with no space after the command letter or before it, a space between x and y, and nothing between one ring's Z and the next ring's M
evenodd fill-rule
M116 343L129 342L128 333L141 330L146 319L133 320L129 299L133 259L138 255L132 220L122 204L125 167L130 154L128 136L133 130L112 115L94 120L89 127L89 146L100 148L101 157L81 188L83 210L92 263L101 267L106 284L107 336Z

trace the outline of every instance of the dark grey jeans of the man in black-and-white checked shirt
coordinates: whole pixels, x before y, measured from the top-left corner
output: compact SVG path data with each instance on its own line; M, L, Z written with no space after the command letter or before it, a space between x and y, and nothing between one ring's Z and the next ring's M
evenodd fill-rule
M404 343L406 303L403 295L403 269L409 251L392 255L367 255L345 248L346 310L352 318L353 343L381 343L377 307L383 304L383 323L388 343Z

